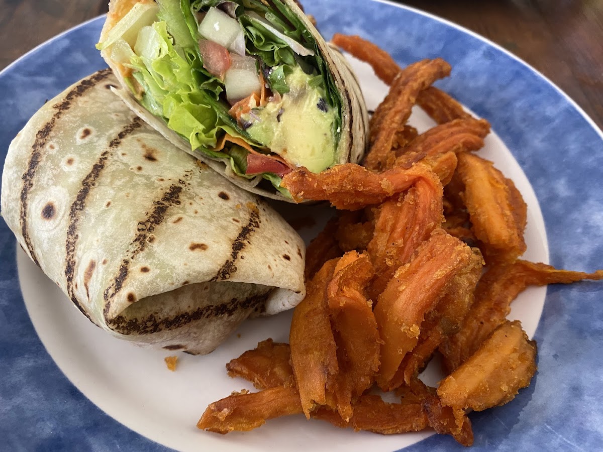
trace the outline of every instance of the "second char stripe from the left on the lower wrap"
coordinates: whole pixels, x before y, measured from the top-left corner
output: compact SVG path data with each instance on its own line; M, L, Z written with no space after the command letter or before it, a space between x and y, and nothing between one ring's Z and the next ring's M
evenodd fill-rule
M92 188L96 185L96 180L98 180L98 178L101 176L101 172L103 172L107 160L109 160L109 157L113 155L112 150L117 148L125 137L127 137L134 130L140 128L142 124L143 122L140 118L134 118L130 124L122 128L117 137L111 140L109 143L109 149L103 151L99 159L92 166L90 172L86 175L84 180L81 181L80 191L78 192L73 204L71 204L71 209L69 209L69 225L67 227L67 237L65 240L65 280L67 281L67 293L69 298L71 298L71 301L73 301L75 306L77 306L77 309L79 309L81 313L83 313L83 315L85 315L90 321L92 321L90 315L86 312L86 310L84 310L83 306L81 306L80 301L75 295L73 281L76 265L75 246L77 245L77 240L80 237L78 227L80 225L81 215L84 212L84 209L86 209L86 198L90 194L90 190L92 190ZM84 283L84 286L86 286L86 293L88 298L90 298L87 283Z

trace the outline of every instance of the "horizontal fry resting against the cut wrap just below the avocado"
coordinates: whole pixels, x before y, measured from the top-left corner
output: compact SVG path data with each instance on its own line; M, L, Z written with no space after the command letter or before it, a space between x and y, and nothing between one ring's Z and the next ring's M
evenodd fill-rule
M329 201L337 209L359 210L374 206L409 189L421 178L432 178L428 165L392 168L376 174L368 169L344 163L314 174L301 166L283 177L281 186L291 192L296 202Z

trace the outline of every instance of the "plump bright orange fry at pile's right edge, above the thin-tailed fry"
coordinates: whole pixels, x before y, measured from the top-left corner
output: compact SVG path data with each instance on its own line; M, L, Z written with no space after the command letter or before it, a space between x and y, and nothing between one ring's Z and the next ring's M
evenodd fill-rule
M484 256L513 261L526 250L523 231L527 206L515 184L492 162L473 154L458 155L464 200Z

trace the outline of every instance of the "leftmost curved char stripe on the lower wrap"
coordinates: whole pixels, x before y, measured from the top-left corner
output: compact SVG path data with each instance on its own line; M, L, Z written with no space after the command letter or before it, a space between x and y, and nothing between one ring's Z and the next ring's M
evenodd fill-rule
M52 108L56 110L54 115L36 134L36 140L34 141L31 149L32 152L30 161L27 165L27 171L21 177L21 179L23 180L23 188L21 189L21 206L19 219L21 222L21 233L23 235L25 245L27 245L27 250L31 256L31 259L36 263L37 266L40 266L40 262L38 261L36 257L36 252L34 251L33 245L31 244L31 238L27 224L27 212L28 197L30 190L34 186L34 177L36 177L36 169L40 163L40 160L42 159L42 150L48 142L48 137L52 133L52 130L54 130L56 122L61 118L63 113L66 110L69 110L69 107L71 107L71 101L74 98L78 98L83 95L83 93L85 93L90 88L95 87L96 84L105 80L111 74L111 69L104 69L103 71L96 72L96 74L94 74L92 77L85 78L84 80L82 80L79 84L77 84L77 86L74 87L74 89L72 89L65 96L65 99L62 102L52 105ZM81 307L79 305L77 306L81 310Z

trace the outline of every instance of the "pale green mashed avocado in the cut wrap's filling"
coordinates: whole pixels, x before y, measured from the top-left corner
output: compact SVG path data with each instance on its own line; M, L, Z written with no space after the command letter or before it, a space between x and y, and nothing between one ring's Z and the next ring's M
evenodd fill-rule
M251 126L251 139L267 146L292 166L321 172L335 162L333 123L336 110L324 100L320 89L310 86L311 75L295 67L285 78L289 92L282 101L268 102L242 115Z

